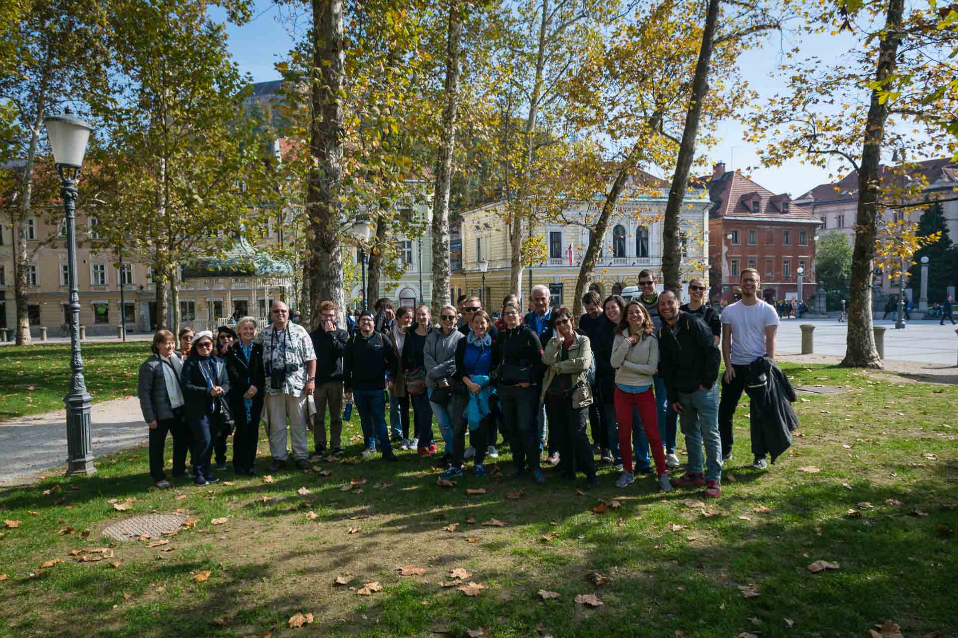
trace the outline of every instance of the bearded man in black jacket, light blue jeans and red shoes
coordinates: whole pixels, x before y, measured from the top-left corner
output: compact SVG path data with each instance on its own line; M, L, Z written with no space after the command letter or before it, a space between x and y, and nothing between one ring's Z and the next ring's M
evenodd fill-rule
M712 330L696 315L678 309L671 291L658 298L659 369L669 403L679 414L689 463L675 486L705 485L705 495L721 494L721 438L719 437L719 362L721 352ZM702 443L705 473L702 473Z

